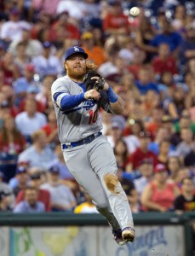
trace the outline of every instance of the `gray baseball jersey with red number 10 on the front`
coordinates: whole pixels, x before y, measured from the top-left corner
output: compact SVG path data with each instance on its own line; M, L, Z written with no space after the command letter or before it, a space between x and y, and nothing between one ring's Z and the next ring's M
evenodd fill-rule
M54 81L51 91L54 102L56 93L63 92L57 98L57 101L60 101L62 96L81 94L83 88L65 76ZM57 116L60 143L77 142L102 128L98 105L93 100L81 102L77 107L68 110L61 110L54 102L54 110Z

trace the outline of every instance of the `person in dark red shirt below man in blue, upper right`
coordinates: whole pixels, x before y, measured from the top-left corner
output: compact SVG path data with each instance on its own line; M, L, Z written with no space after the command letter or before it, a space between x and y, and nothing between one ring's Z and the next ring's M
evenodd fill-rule
M164 72L172 74L178 73L175 59L170 55L169 44L160 44L158 55L152 61L152 66L156 74L162 75Z

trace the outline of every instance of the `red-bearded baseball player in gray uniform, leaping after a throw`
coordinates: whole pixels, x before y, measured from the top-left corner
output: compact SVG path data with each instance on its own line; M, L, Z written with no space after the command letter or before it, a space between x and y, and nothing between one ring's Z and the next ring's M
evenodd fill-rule
M52 100L58 122L59 138L66 165L83 189L90 195L97 210L105 216L119 245L134 241L135 230L127 196L118 182L118 170L112 147L102 129L99 116L100 91L86 90L83 76L93 64L78 46L66 50L66 76L52 84ZM109 112L123 111L122 99L106 81L98 76L91 81L106 91Z

